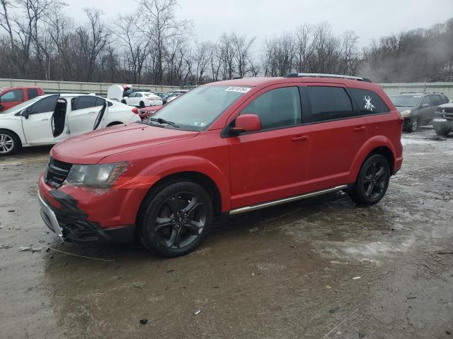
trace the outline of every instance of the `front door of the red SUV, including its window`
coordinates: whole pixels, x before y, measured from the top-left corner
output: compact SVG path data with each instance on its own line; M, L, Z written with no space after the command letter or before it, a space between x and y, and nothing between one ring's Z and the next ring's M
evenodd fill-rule
M280 87L280 88L279 88ZM239 108L257 114L258 132L229 137L231 208L300 194L309 145L297 86L266 88Z

